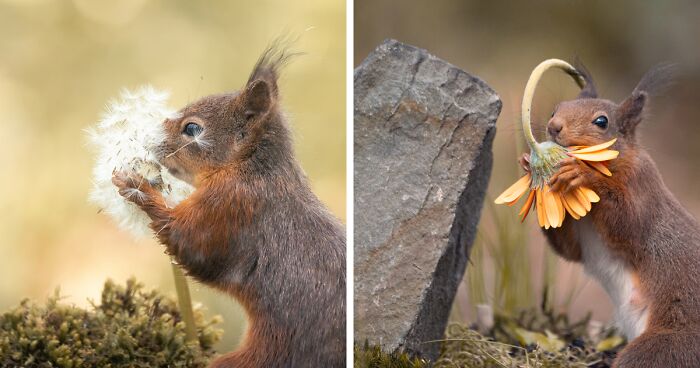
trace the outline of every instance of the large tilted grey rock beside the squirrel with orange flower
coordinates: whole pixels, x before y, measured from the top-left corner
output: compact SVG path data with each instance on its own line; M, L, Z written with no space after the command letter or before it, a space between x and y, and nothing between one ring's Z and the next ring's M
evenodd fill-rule
M501 110L486 83L387 40L355 69L355 339L434 359Z

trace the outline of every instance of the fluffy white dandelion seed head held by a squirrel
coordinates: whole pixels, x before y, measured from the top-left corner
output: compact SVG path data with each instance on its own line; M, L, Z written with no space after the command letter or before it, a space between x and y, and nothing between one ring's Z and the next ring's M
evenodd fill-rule
M148 215L127 201L112 184L116 171L135 172L157 187L168 206L174 207L194 188L172 176L158 163L156 152L165 140L165 119L177 118L176 110L167 106L169 93L144 86L135 91L122 90L120 98L107 105L102 119L87 130L96 149L93 189L90 199L121 227L136 237L152 234ZM135 190L132 195L140 195Z

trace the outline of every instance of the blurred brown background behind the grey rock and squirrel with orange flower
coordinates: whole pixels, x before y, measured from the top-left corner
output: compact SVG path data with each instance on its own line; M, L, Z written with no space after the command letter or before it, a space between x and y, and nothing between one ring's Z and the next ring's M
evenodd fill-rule
M538 305L545 286L554 304L574 317L587 311L602 321L611 316L603 290L545 246L534 216L521 225L517 210L490 204L521 175L515 165L524 147L520 102L530 71L544 59L580 57L600 94L614 101L656 63L686 69L673 93L653 101L640 135L671 191L700 218L700 2L356 0L354 15L355 65L382 40L395 38L482 78L503 101L489 197L454 318L472 319L475 303L506 311ZM533 113L540 139L553 106L576 92L563 73L545 75Z

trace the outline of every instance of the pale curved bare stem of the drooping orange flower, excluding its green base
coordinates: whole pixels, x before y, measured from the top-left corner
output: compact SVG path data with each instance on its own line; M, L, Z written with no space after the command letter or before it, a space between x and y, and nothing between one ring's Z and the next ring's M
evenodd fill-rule
M522 123L523 123L523 133L525 133L525 141L530 146L533 151L539 151L537 140L532 134L532 125L530 123L530 111L532 110L532 98L535 95L535 88L537 83L542 78L542 74L551 68L559 68L564 72L569 74L571 78L574 79L579 87L583 88L586 85L586 81L583 77L576 71L576 68L571 66L564 60L559 59L549 59L541 62L530 74L530 79L527 80L525 85L525 92L523 93L523 104L521 109Z

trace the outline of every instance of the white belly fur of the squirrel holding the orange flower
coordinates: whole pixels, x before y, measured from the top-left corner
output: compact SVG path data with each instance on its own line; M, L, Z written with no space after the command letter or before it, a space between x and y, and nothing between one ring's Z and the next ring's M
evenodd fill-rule
M584 270L605 289L615 307L615 323L632 340L646 329L648 310L636 276L610 252L590 218L576 222Z

